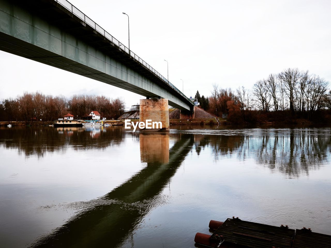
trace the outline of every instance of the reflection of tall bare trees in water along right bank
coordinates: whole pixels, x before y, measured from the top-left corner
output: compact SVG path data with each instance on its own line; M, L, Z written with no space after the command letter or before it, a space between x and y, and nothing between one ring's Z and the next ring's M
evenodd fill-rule
M196 152L211 146L215 159L236 156L253 158L257 163L288 175L308 174L329 161L331 136L316 130L293 129L264 132L259 135L209 135L196 143Z

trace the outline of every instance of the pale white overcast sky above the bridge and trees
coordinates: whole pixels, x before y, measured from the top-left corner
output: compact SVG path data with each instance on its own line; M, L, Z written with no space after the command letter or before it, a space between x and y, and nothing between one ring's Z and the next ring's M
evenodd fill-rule
M79 10L167 77L184 94L209 96L253 84L284 68L309 70L331 81L331 1L71 0ZM123 97L140 95L0 51L0 100L24 91Z

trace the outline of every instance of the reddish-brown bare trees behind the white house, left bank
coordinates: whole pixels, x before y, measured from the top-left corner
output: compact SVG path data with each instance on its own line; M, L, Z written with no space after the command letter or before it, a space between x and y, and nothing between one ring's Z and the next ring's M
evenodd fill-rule
M111 99L105 96L73 95L53 97L40 92L24 92L16 99L5 99L0 103L2 121L25 121L29 123L42 119L53 121L71 113L74 118L83 119L91 111L98 111L107 119L118 118L124 113L125 103L121 98Z

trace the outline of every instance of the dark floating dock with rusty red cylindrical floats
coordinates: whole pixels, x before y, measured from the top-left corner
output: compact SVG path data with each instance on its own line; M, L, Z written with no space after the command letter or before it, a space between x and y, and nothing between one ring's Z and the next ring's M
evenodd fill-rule
M315 233L310 228L290 229L242 221L238 217L224 223L210 221L212 235L197 233L194 241L220 248L331 248L331 235Z

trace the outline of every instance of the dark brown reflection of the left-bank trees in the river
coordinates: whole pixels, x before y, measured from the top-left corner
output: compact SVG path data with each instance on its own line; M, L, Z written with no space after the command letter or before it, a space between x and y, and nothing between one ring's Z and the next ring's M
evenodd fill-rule
M25 156L42 157L46 152L65 152L72 149L106 148L122 142L122 128L77 128L77 127L22 127L3 129L0 132L0 145L18 149Z

